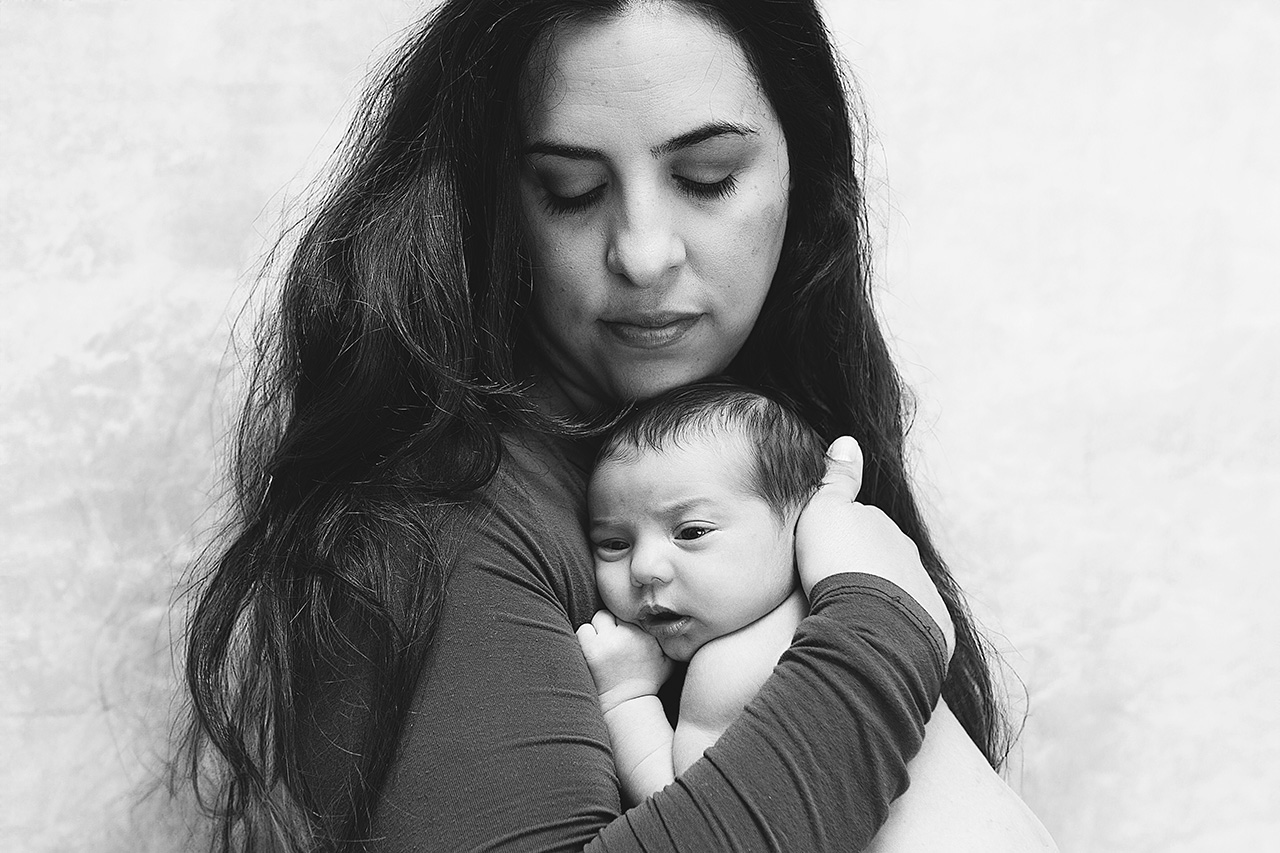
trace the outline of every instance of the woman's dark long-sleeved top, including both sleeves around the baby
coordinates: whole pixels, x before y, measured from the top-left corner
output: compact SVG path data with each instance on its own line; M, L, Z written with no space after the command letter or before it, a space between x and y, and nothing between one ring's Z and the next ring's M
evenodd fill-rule
M566 484L562 460L516 461L451 576L370 849L865 845L941 688L940 634L923 611L869 575L815 587L792 648L737 722L623 815L573 635L598 606L576 493L585 474ZM323 761L337 763L321 775L342 772L337 752Z

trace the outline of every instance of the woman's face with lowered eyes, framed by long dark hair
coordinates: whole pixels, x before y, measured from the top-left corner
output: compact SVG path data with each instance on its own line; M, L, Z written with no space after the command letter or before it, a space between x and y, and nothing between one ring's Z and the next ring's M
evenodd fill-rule
M522 105L532 330L584 411L721 373L787 223L782 128L733 38L676 3L557 29Z

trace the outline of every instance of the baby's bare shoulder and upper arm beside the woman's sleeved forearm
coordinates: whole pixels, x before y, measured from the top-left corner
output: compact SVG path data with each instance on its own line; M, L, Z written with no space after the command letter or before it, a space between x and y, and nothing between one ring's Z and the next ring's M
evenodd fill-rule
M701 758L755 697L778 658L791 647L796 628L808 612L804 593L796 589L746 628L698 649L689 661L680 694L680 724L672 747L677 774Z

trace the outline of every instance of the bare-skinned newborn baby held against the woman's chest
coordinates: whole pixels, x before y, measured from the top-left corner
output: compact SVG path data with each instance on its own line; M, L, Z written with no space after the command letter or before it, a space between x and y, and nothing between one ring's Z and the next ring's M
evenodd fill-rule
M608 611L577 637L627 806L698 761L790 647L808 613L795 523L824 471L803 419L727 383L663 396L600 450L588 511ZM675 731L671 661L689 662ZM909 774L872 849L1056 849L942 701Z

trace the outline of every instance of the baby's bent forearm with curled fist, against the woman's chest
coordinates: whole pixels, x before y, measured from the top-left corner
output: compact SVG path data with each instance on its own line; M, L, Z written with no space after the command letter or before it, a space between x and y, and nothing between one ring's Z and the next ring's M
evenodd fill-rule
M635 806L676 777L671 724L658 699L671 661L658 640L607 610L577 629L577 642L600 697L622 799Z

